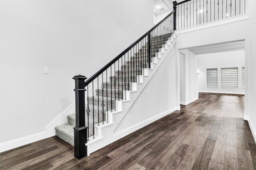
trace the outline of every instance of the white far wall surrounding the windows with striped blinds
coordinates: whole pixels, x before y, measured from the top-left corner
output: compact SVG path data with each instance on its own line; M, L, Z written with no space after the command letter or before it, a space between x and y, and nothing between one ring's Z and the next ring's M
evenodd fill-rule
M228 51L197 55L198 90L199 92L219 92L244 94L242 88L242 67L244 66L244 50ZM221 87L221 68L238 67L238 88ZM218 69L218 87L206 87L206 68Z

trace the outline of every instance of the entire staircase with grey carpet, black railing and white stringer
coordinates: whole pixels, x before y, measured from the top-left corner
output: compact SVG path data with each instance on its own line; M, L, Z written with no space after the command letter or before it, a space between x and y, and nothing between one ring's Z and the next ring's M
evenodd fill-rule
M76 113L68 115L68 123L55 130L57 137L74 146L76 158L89 156L140 128L115 132L175 44L174 12L90 78L73 77Z

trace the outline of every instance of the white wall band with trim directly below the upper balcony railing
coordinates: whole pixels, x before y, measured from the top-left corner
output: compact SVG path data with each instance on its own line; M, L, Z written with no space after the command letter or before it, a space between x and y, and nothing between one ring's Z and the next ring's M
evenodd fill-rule
M248 34L245 28L248 27L248 14L244 14L177 30L177 49L244 40Z

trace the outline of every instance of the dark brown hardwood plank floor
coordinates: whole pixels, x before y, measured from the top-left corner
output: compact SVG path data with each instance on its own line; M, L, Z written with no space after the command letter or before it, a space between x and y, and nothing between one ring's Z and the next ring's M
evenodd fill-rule
M0 153L0 169L253 170L256 145L243 120L244 96L200 93L179 111L77 160L50 137Z

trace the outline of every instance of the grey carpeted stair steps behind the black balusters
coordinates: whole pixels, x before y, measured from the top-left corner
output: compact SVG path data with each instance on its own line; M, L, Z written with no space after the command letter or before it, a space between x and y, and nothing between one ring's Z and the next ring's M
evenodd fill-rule
M171 37L170 34L166 35L166 37L165 37L166 41L162 41L161 43L159 43L160 46L158 46L158 48L155 48L154 50L152 50L152 53L154 53L154 55L152 56L153 60L157 61L157 59L162 59L160 56L163 56L166 53L166 51L169 51L168 49L170 48L170 45L172 45L174 43L174 37L176 37L176 36L174 35L173 37ZM160 40L161 39L159 37L152 38L153 43L156 41L160 41ZM146 51L145 50L146 45L142 46L142 49L144 51ZM124 99L122 100L122 89L125 90L125 92L128 92L128 90L130 92L132 92L131 91L132 83L136 83L137 80L139 79L137 76L142 76L143 72L144 72L144 76L146 76L145 72L146 71L148 72L148 70L144 70L144 69L147 68L147 64L145 64L145 62L148 63L148 59L143 60L144 61L144 66L143 66L143 64L140 63L140 57L141 57L140 52L136 52L136 53L134 53L134 55L132 57L130 57L129 61L125 62L126 65L129 64L132 67L132 69L129 70L129 76L128 76L128 70L126 69L126 72L124 72L124 68L123 68L124 66L121 65L120 69L115 71L115 76L109 76L108 83L103 82L103 86L104 86L103 95L102 95L102 88L97 88L97 89L95 89L96 96L88 96L88 102L89 102L88 108L90 109L90 111L94 110L94 113L96 113L96 114L94 114L94 123L93 123L93 114L89 114L89 137L93 136L93 125L97 126L97 125L102 124L102 122L106 121L106 113L107 113L107 111L111 111L111 109L110 109L111 104L112 104L112 108L116 107L116 100L118 100L118 96L120 99L119 101L127 100L127 96L125 99L124 94L123 94ZM156 61L153 63L157 64ZM136 69L136 65L137 65L137 69ZM130 83L120 82L122 79L124 79L125 76L126 76L126 79L129 78ZM114 85L114 80L119 80L119 82L116 82L116 86ZM141 80L141 82L142 82L142 80ZM107 89L108 89L108 93L107 93ZM115 90L116 90L116 92L115 92ZM110 97L111 91L112 91L112 100ZM116 94L116 95L114 95L114 94ZM100 97L98 97L98 95ZM112 101L112 102L108 102L108 110L106 110L106 107L104 107L104 109L102 110L102 107L101 107L102 100L105 104L107 103L106 102L107 100ZM94 108L93 108L93 106L94 106ZM98 109L98 106L99 106L99 109ZM87 107L86 107L86 109L87 109ZM115 109L113 109L113 110L115 110ZM116 110L116 111L121 111L121 110ZM70 114L67 116L67 118L68 118L68 123L63 124L63 125L58 125L55 127L56 136L64 141L66 141L70 145L74 146L74 129L73 128L76 125L76 116L75 116L75 114ZM86 119L85 121L86 121L86 125L87 125L88 120ZM94 135L94 137L95 137L95 135ZM98 136L96 136L96 138L98 138Z

